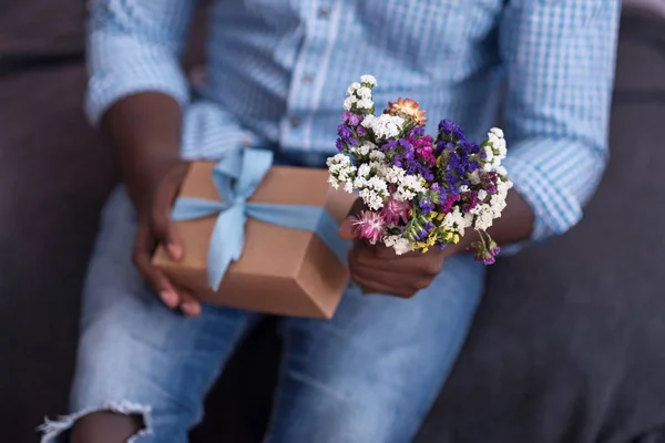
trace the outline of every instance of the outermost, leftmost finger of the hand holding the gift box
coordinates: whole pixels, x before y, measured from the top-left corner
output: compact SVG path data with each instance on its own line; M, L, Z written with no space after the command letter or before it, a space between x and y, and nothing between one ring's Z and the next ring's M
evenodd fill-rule
M153 287L164 303L170 308L177 307L180 295L162 271L152 265L153 236L144 226L139 228L134 240L133 260L145 281Z

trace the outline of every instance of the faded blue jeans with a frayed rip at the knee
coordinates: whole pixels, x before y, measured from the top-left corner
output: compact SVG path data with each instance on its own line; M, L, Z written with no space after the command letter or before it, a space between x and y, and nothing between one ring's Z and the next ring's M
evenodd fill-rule
M142 414L136 443L184 443L203 399L262 318L205 306L198 318L166 309L131 262L136 218L123 188L105 206L81 319L68 416L42 442L92 411ZM280 318L283 369L269 424L276 443L409 442L464 340L483 290L471 257L447 261L410 300L348 289L332 320Z

